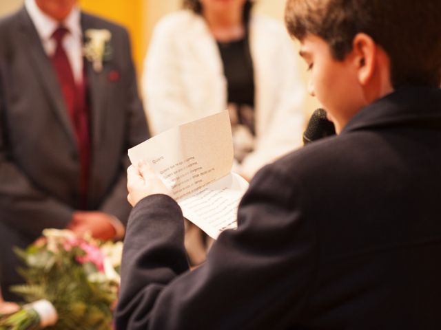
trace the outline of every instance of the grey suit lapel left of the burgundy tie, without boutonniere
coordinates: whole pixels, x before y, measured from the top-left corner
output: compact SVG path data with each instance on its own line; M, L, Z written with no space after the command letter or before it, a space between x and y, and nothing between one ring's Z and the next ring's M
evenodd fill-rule
M25 45L23 52L28 54L30 61L32 61L32 68L35 70L37 77L41 82L45 93L48 95L50 102L52 102L52 109L59 118L68 138L74 146L76 146L76 138L74 129L70 118L68 116L68 110L66 109L63 95L57 81L57 75L55 74L52 63L48 55L41 45L39 34L35 30L34 25L28 16L28 12L23 8L20 15L20 38L23 39L22 45Z

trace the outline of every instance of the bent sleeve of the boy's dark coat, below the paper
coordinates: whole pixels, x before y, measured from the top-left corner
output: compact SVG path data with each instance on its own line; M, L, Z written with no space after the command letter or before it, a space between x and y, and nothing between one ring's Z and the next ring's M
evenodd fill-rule
M300 316L316 263L314 225L294 178L266 168L207 261L189 272L183 218L165 195L130 217L116 329L287 329Z

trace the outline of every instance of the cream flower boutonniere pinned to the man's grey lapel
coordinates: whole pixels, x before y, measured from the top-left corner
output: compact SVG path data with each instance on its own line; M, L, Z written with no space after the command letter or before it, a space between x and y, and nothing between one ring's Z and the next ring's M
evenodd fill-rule
M103 62L112 57L110 39L112 39L112 34L109 30L89 29L85 31L83 52L85 58L92 63L95 72L101 72Z

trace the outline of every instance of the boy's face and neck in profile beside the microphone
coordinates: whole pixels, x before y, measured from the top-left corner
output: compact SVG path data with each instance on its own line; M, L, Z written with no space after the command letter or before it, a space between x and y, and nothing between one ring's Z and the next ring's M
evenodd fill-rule
M339 133L352 116L367 105L357 66L353 65L353 54L350 52L343 61L337 61L326 41L315 34L307 34L300 41L299 53L310 72L308 92L318 98Z

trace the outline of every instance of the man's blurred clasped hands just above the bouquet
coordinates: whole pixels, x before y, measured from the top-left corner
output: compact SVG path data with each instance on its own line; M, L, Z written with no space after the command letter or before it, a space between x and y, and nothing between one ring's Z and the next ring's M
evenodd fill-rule
M74 212L68 229L79 236L83 236L85 232L90 232L95 239L103 241L113 239L116 234L110 215L98 211Z

